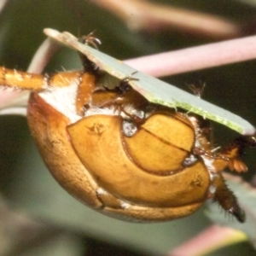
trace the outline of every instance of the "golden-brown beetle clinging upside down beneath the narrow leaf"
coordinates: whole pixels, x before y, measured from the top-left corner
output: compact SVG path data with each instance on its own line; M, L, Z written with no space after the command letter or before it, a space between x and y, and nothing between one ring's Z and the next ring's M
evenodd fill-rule
M28 125L58 183L126 221L182 218L212 198L244 222L222 171L247 171L241 154L255 137L214 150L207 120L148 102L129 84L132 74L109 84L108 73L81 59L84 70L53 75L0 67L1 86L32 91Z

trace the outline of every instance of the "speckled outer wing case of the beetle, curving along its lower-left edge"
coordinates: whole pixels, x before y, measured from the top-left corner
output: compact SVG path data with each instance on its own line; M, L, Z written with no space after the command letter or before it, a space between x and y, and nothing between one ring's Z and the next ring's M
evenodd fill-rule
M95 182L95 177L90 175L90 172L88 172L73 150L71 143L72 136L70 137L67 132L67 126L70 125L70 120L62 113L55 110L55 108L52 108L47 102L44 102L44 99L37 93L33 93L30 97L27 118L32 136L36 140L40 154L42 154L44 162L49 167L49 171L58 183L60 183L64 189L67 189L71 195L79 199L79 201L83 201L89 207L99 210L104 214L133 222L163 221L187 216L195 212L205 201L207 188L201 195L203 197L201 201L195 201L189 205L148 207L145 205L133 205L129 202L126 203L115 195L108 194L108 192L98 186ZM72 131L69 132L72 133ZM80 134L80 137L83 137L83 135ZM111 140L111 137L109 140ZM106 146L108 150L108 144L106 144ZM89 150L91 150L91 148L89 148ZM102 150L102 153L106 153L106 148ZM112 153L115 154L114 152ZM97 159L96 156L93 159L99 164L104 163L102 160ZM108 166L111 160L113 160L113 158L108 158L107 164L104 163L103 166L101 166L103 172L106 172L108 177L115 174L108 173L108 170L106 170L106 168L113 168L113 166ZM119 171L118 168L114 170ZM208 177L203 178L208 179ZM113 181L115 180L113 179ZM117 180L117 182L119 181ZM151 183L154 183L154 181L152 180ZM167 188L165 188L165 190L172 191L172 184L167 185L166 183L166 186ZM137 188L131 187L125 189L131 191L137 190ZM151 192L151 195L158 193L157 190Z

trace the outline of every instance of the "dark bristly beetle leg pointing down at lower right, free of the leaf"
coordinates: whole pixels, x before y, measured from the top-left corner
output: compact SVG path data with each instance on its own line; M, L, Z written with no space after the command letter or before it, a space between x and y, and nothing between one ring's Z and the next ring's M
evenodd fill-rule
M234 215L239 222L245 222L245 213L239 206L236 195L227 187L221 173L214 178L213 185L216 187L213 200L218 201L219 205Z

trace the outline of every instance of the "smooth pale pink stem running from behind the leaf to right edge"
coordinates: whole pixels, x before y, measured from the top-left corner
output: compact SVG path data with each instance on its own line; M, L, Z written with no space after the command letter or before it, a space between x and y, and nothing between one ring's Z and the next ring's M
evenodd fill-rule
M154 77L186 73L256 58L256 36L178 49L125 61Z

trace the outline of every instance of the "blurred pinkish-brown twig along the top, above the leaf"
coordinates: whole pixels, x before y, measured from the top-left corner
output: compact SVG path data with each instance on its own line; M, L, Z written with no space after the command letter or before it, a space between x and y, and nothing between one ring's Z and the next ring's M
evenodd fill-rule
M241 36L241 26L222 17L179 9L145 0L93 0L103 9L123 20L131 30L169 29L208 38L224 39Z

